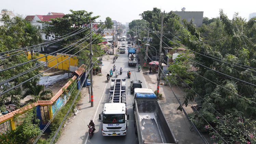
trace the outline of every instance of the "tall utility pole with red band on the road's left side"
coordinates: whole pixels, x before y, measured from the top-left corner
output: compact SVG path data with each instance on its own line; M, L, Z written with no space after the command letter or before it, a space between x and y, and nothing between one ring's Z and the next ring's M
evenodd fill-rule
M90 35L92 34L92 24L91 24L91 19L90 19ZM90 84L90 87L91 87L91 107L93 107L93 89L92 89L92 84L93 84L93 81L92 81L92 36L90 36L90 78L91 78L91 84Z

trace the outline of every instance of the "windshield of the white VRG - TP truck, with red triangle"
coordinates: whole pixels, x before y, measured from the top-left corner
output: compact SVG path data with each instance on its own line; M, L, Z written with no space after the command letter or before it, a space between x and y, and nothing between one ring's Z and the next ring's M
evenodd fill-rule
M104 114L103 123L105 124L125 123L125 114Z

